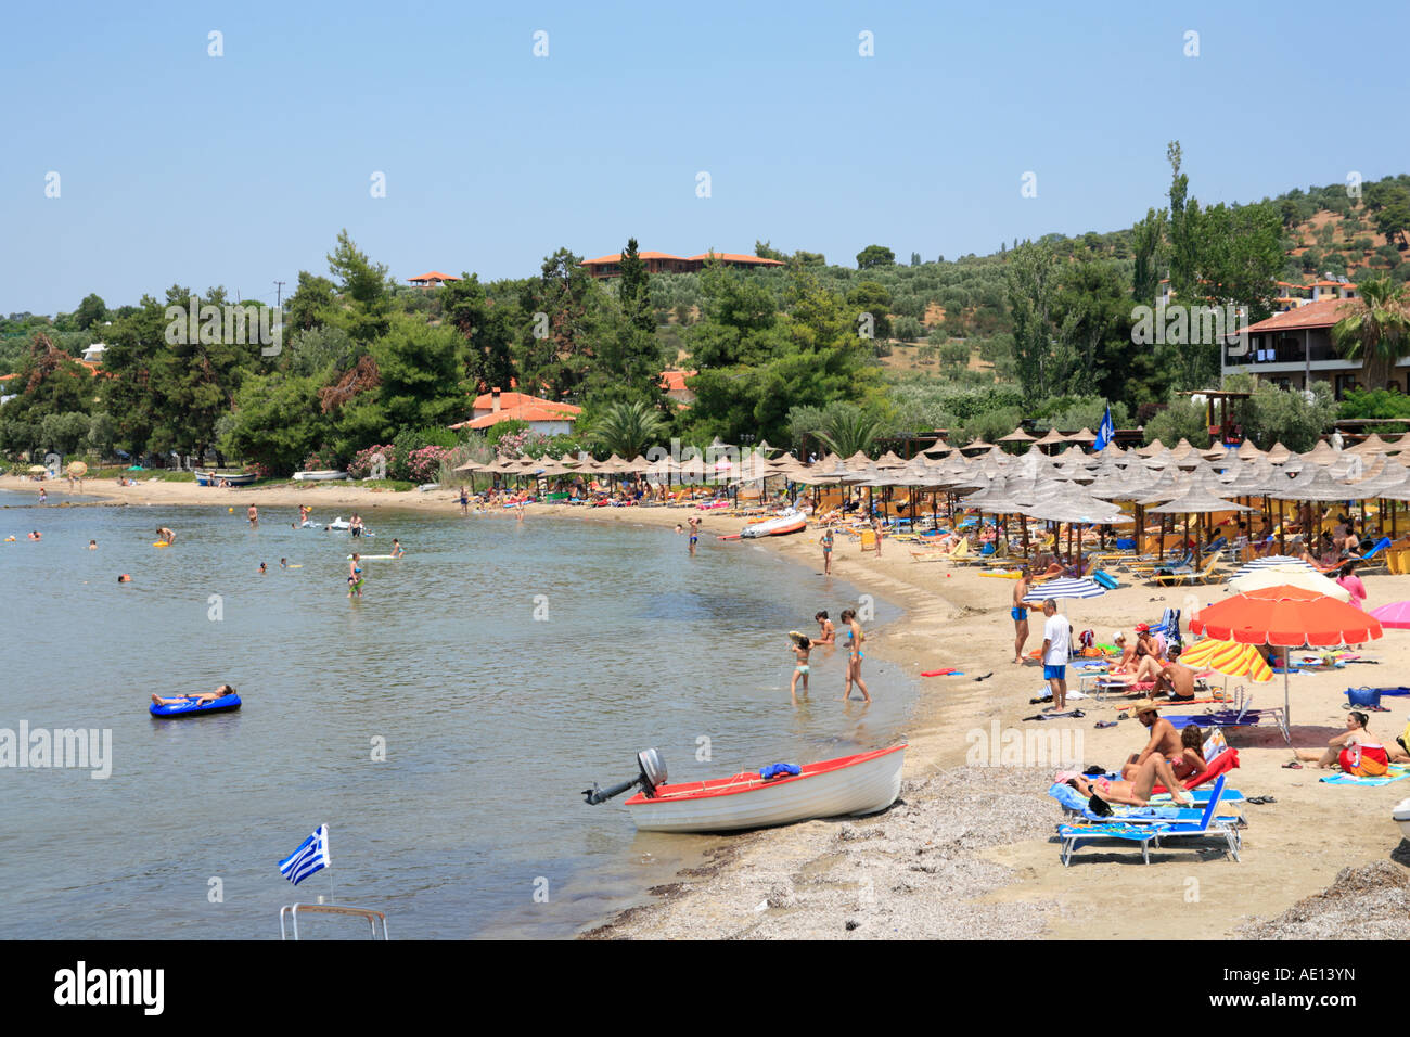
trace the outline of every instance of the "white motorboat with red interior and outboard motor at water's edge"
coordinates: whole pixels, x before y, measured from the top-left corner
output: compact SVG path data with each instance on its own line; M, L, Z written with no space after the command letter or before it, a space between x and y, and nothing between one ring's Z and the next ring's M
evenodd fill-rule
M709 782L667 782L656 749L637 755L640 775L611 789L587 789L602 803L640 784L626 800L637 830L647 832L728 832L768 828L819 817L876 814L901 793L905 744L797 766L746 770ZM767 777L764 775L768 775Z

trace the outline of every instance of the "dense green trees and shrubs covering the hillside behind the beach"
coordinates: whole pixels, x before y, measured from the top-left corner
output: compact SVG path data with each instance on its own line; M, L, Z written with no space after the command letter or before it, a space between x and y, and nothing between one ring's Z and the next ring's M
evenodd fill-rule
M1173 394L1215 382L1218 346L1142 340L1138 308L1153 306L1167 281L1177 303L1237 303L1258 319L1276 279L1348 271L1365 305L1338 327L1338 346L1371 357L1368 382L1383 384L1379 365L1407 340L1410 176L1359 195L1338 183L1206 206L1179 144L1167 158L1166 196L1129 230L1015 240L953 261L911 253L907 265L883 244L840 267L756 241L757 255L784 265L650 275L629 238L615 279L594 279L560 248L534 277L465 272L423 291L395 284L343 231L324 272L300 271L276 348L173 339L169 308L192 303L183 286L117 308L90 293L72 313L0 319L0 372L18 375L0 384L11 396L0 450L214 450L271 473L309 459L343 466L388 443L406 456L437 446L468 457L495 443L447 426L492 388L582 406L575 437L496 426L499 444L536 456L626 453L671 436L809 449L880 449L936 430L994 440L1019 422L1038 435L1094 429L1108 405L1118 426L1145 419L1148 439L1200 442L1203 415ZM195 301L227 303L219 286ZM99 340L107 351L94 377L75 360ZM670 368L695 371L689 406L666 398ZM1382 392L1354 394L1341 412L1406 409ZM1330 402L1268 387L1239 409L1262 446L1308 442L1331 416Z

